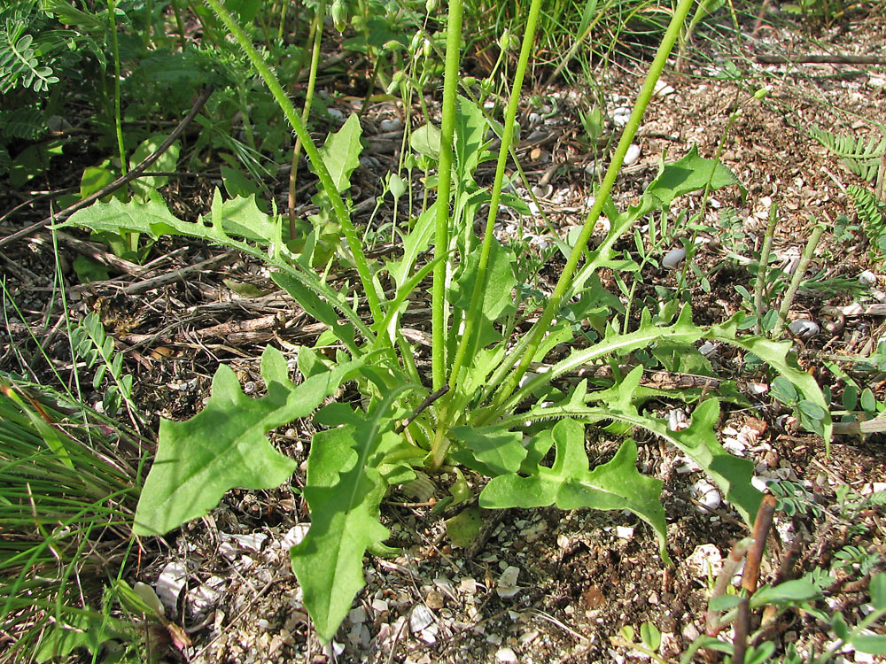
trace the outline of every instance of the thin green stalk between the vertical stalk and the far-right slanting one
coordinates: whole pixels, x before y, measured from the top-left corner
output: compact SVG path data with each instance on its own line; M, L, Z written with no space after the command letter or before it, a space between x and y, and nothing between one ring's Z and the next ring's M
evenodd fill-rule
M520 58L517 61L517 72L514 74L514 82L510 90L510 99L508 108L505 110L504 131L501 135L501 148L499 149L498 162L495 167L495 180L493 183L492 197L489 201L489 214L486 217L486 230L483 235L483 245L480 247L480 259L477 266L477 280L474 282L474 290L470 294L470 308L468 315L464 320L464 329L462 338L458 344L458 350L455 352L455 361L453 362L452 371L449 374L449 396L447 398L447 406L444 407L437 423L438 434L434 436L434 444L431 448L431 468L437 468L443 463L448 448L447 437L444 436L445 431L449 427L449 408L457 393L457 385L459 382L459 374L461 374L462 365L469 351L473 351L476 346L474 330L476 321L480 315L480 303L486 292L486 271L489 266L489 254L492 251L494 240L495 217L498 212L499 201L501 199L501 184L504 181L505 166L508 163L508 154L510 144L514 137L514 124L517 120L517 106L520 104L520 90L523 89L523 81L526 74L526 67L529 64L529 55L532 51L532 44L535 42L535 29L538 26L539 13L541 9L541 0L532 0L529 8L529 16L526 19L526 31L523 35L523 46L520 49ZM501 50L504 52L504 49Z

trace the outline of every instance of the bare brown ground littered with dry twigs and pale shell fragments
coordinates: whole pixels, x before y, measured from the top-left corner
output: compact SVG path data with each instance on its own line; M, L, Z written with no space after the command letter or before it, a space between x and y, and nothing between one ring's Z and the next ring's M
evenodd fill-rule
M694 48L703 57L696 53L683 73L664 75L667 87L660 89L650 105L636 141L640 157L626 167L617 184L617 204L635 202L665 154L668 159L680 158L695 145L704 157L719 155L747 189L746 197L738 188L716 192L707 201L707 212L697 229L703 242L697 244L693 260L701 273L710 273L709 288L692 273L688 288L696 320L701 322L724 320L739 309L736 284L752 290L752 274L734 255L758 250L771 205L778 206L780 220L774 251L785 264L802 251L812 220L833 230L842 215L851 219L846 187L860 181L809 135L808 127L873 135L871 127L886 118L882 65L766 65L750 54L750 49L787 58L809 52L882 53L886 44L882 12L860 11L835 27L820 27L814 42L796 24L780 20L778 15L767 15L758 39L752 41L753 20L749 19L742 26L743 43L729 43L728 50L722 40L696 39ZM729 63L736 67L734 73ZM611 120L619 108L631 105L644 63L613 61L605 68L601 65L599 73L605 93L597 102ZM768 88L768 95L755 97L755 91L763 87ZM524 159L528 184L536 186L548 174L548 181L538 185L536 192L540 207L554 228L565 233L584 219L594 177L590 174L594 158L583 143L579 121L579 111L587 110L591 100L586 91L576 89L544 89L538 95L541 109L535 115L525 114L528 130L523 132L518 153ZM352 103L347 97L334 104L345 114L360 105L361 100ZM552 108L556 112L542 117L545 109ZM736 110L740 110L737 115ZM379 178L395 163L394 150L399 149L399 139L373 137L381 133L380 120L393 116L391 104L369 104L364 130L370 147L354 189L354 201L362 210L357 219L364 222L375 205ZM618 127L611 122L609 127L617 137ZM70 174L74 172L80 171L66 168L52 173L51 188L73 186ZM285 207L284 180L276 189L281 209ZM174 180L165 196L173 201L176 213L194 219L206 212L216 184L203 179ZM518 188L523 194L525 190ZM677 205L697 210L703 201L687 197ZM306 200L299 212L309 206ZM731 226L720 213L728 208L734 209L737 220ZM40 205L32 205L4 216L3 230L24 227L39 219L41 212ZM674 217L679 212L675 209ZM537 222L543 228L538 218L522 222ZM511 232L509 224L516 223L504 220L502 237ZM532 235L532 227L528 228ZM0 359L4 370L20 370L20 353L33 359L38 374L47 373L47 367L35 359L27 332L28 327L41 328L43 320L54 328L59 315L56 308L44 318L47 302L56 295L52 290L55 259L47 238L34 235L12 245L3 257L6 288L20 309L19 318L9 323L9 338L4 339ZM63 239L63 267L84 246ZM264 345L276 343L286 351L290 344L305 343L319 331L283 294L273 291L267 271L252 259L213 247L163 241L152 252L158 258L143 269L114 261L101 245L89 246L98 258L112 262L119 276L70 285L68 305L78 315L90 310L101 313L105 327L127 350L126 367L135 376L136 403L151 420L152 429L159 417L183 419L198 412L220 362L235 369L247 393L250 387L260 390L258 358ZM633 243L625 248L631 247ZM826 234L809 274L823 271L822 279L843 286L801 291L791 318L824 320L826 306L886 301L880 290L886 290L886 275L872 257L863 233L845 239ZM216 260L158 286L145 283L150 277L173 274L206 259ZM863 271L874 273L871 288L858 286ZM656 286L675 290L680 274L680 270L646 266L638 301L653 303L659 297ZM549 287L545 281L556 280L556 269L543 276L541 287ZM841 277L843 282L838 282ZM73 273L67 272L66 280L73 279ZM222 280L252 284L262 294L237 295ZM613 284L613 288L617 287ZM417 321L416 327L420 325ZM820 384L830 386L839 403L843 383L831 373L828 358L840 353L870 354L883 328L883 317L875 315L847 316L843 328L833 331L822 325L818 336L795 340L800 361ZM53 339L51 333L42 338L53 362L58 367L67 362L69 369L60 338ZM719 352L714 361L721 375L740 378L745 385L765 382L761 375L742 374L737 355L726 349ZM851 366L843 370L874 390L879 402L886 399L883 374L859 374ZM721 442L753 459L761 479L795 483L807 491L801 501L805 512L776 514L762 581L829 567L835 553L846 545L886 555L882 506L853 513L835 498L839 487L848 486L859 496L884 488L882 436L837 436L828 453L820 437L804 433L791 413L765 391L746 396L753 407L735 406L724 414ZM660 407L663 415L674 410L671 404ZM186 630L192 645L183 652L170 649L168 660L622 662L644 656L619 640L620 630L633 626L639 632L641 623L651 622L663 635L661 656L676 661L704 633L712 575L732 545L749 534L730 506L710 510L700 506L706 499L701 474L677 451L651 439L641 441L639 463L643 472L664 482L672 565L659 556L655 534L627 513L569 513L553 508L485 513L485 537L467 551L447 541L443 519L451 514L432 514L432 500L427 497L393 492L383 506L383 521L392 530L388 544L400 551L392 558L366 558L366 588L354 601L338 637L324 647L300 602L288 556L293 538L304 533L309 521L298 489L304 481L303 462L311 433L306 422L274 436L282 451L302 463L291 486L231 491L205 519L165 539L142 542L142 562L130 570L133 581L153 585L161 578L168 580L175 576L171 563L187 570L181 583L173 581L176 606L167 609L167 615ZM591 446L592 461L605 460L612 453L610 446L605 441ZM438 478L432 498L447 495L447 483L453 480L451 473ZM479 478L469 477L469 481L476 486ZM814 507L823 512L814 515ZM789 556L796 560L792 571L780 573ZM883 569L882 560L874 569ZM859 615L864 588L848 591L844 585L835 587L827 601L828 606L841 606L851 622ZM175 593L175 588L181 592ZM773 625L768 638L779 652L790 642L817 652L829 643L828 634L811 615L793 612ZM851 649L843 657L845 661L873 661Z

